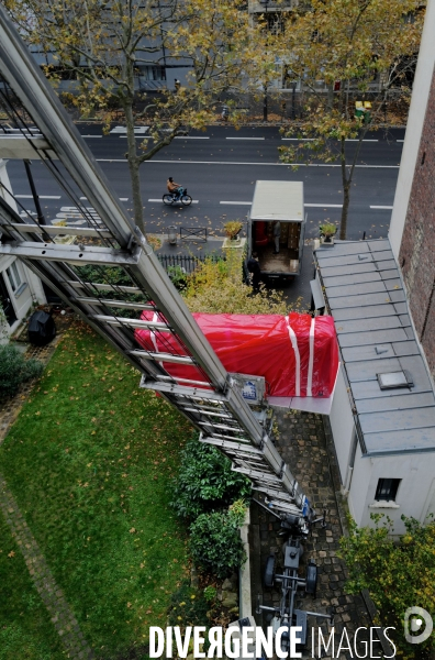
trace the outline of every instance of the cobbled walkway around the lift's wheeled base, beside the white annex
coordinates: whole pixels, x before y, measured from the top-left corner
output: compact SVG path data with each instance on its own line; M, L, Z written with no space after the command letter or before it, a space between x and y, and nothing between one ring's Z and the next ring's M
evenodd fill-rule
M277 449L282 459L288 463L316 513L321 515L323 509L327 512L326 529L317 526L303 543L302 563L305 565L310 559L315 560L319 568L319 585L316 597L306 596L300 607L322 613L326 613L328 606L334 607L337 646L344 627L346 627L349 639L353 639L354 631L358 627L370 627L372 624L362 598L347 595L344 591L346 568L337 557L338 541L344 532L335 496L333 473L336 465L334 457L327 450L322 416L311 413L279 410L277 422L280 435ZM263 574L267 557L272 552L276 553L278 568L282 568L281 548L283 539L278 536L280 530L279 520L258 505L254 504L252 506L250 521L249 541L254 613L257 606L257 594L261 594L264 605L277 606L279 604L279 585L274 588L266 588L263 585ZM271 615L266 614L255 614L254 616L259 626L268 625L271 618ZM313 617L310 617L310 626L314 628L317 636L317 623ZM327 632L326 623L323 623L322 630L324 635ZM375 648L379 648L379 645ZM317 650L316 648L315 653L311 651L310 631L310 644L303 657L317 657ZM358 652L360 657L365 657L362 646L358 647ZM327 658L331 656L324 654L322 657ZM339 656L343 660L347 657L352 656L348 656L348 653Z

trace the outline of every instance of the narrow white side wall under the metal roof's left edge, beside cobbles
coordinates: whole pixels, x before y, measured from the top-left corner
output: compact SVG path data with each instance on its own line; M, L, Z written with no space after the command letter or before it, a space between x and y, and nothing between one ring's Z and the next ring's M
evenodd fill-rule
M347 466L349 464L350 447L354 437L355 425L342 364L339 364L338 367L337 382L335 384L334 398L330 413L330 422L338 460L342 484L344 484L346 481Z

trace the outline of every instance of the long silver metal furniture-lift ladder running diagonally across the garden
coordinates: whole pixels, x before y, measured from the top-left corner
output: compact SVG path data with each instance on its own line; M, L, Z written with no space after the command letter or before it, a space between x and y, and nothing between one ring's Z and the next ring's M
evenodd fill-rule
M185 302L166 276L150 246L146 243L145 238L124 215L88 147L66 116L65 110L36 67L1 7L0 40L3 44L0 54L0 70L3 78L18 98L21 99L32 120L41 130L51 148L57 153L71 178L92 204L96 212L105 224L103 231L109 232L112 238L112 245L115 243L120 245L120 249L83 248L81 245L59 246L53 243L44 243L40 237L35 235L37 232L30 232L27 228L30 238L35 238L36 241L22 240L22 230L16 227L21 223L21 218L13 218L11 215L8 217L8 210L3 205L1 207L3 229L12 242L2 245L0 253L15 255L23 260L87 322L108 339L130 362L135 364L147 376L148 385L150 381L152 387L164 394L197 427L205 426L204 441L208 437L212 440L219 438L222 436L219 432L221 430L227 431L228 435L231 432L230 438L244 435L249 443L260 449L261 470L256 468L255 462L252 464L246 461L246 458L234 452L232 450L234 448L223 446L221 450L227 455L232 455L235 469L247 474L254 485L275 493L277 503L278 497L285 501L291 498L298 510L301 510L304 496L300 492L295 480L282 463L277 450L272 448L270 439L252 414L237 386L228 377ZM47 153L42 155L47 157ZM8 224L14 224L14 227L8 228ZM161 367L161 356L156 360L155 356L148 354L147 359L144 360L134 348L132 349L134 346L134 332L132 332L134 323L132 319L120 320L120 317L98 314L98 309L96 312L96 307L99 307L99 305L89 300L87 296L85 296L85 300L79 300L75 295L75 287L68 284L71 279L78 279L71 276L70 270L68 272L65 266L68 263L75 265L83 263L100 264L104 266L109 264L111 266L122 266L131 273L132 280L137 283L138 288L149 296L149 299L156 305L156 310L167 319L165 323L158 326L146 322L145 327L150 330L153 328L167 330L180 339L181 343L188 349L192 363L208 375L214 389L214 392L202 389L202 399L209 404L219 397L223 402L225 411L232 420L230 428L222 429L217 427L216 430L215 424L211 421L204 424L204 419L208 418L204 417L204 410L201 411L198 402L196 413L187 410L186 407L183 408L180 405L180 399L191 395L188 386L171 384L172 391L165 391L165 383L159 381L159 377L165 377L166 373ZM175 387L177 387L177 392L174 391Z

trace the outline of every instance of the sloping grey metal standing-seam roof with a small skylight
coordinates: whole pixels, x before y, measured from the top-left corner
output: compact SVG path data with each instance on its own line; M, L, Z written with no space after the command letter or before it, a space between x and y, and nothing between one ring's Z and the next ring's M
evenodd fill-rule
M435 396L390 242L319 249L327 307L366 455L435 451ZM410 388L380 389L377 374L410 372Z

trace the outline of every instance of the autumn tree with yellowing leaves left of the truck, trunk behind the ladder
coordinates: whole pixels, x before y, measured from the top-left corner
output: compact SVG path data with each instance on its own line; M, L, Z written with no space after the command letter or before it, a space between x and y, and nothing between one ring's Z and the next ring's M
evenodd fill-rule
M136 224L145 231L140 166L170 144L180 127L204 128L216 101L234 97L250 65L257 28L249 25L243 0L7 0L24 38L46 53L56 78L67 70L78 81L71 95L85 116L99 111L107 127L114 110L126 125L126 158ZM164 55L165 54L165 55ZM141 66L166 58L190 66L179 89L137 94ZM137 122L149 125L138 142ZM237 122L235 105L230 121Z

